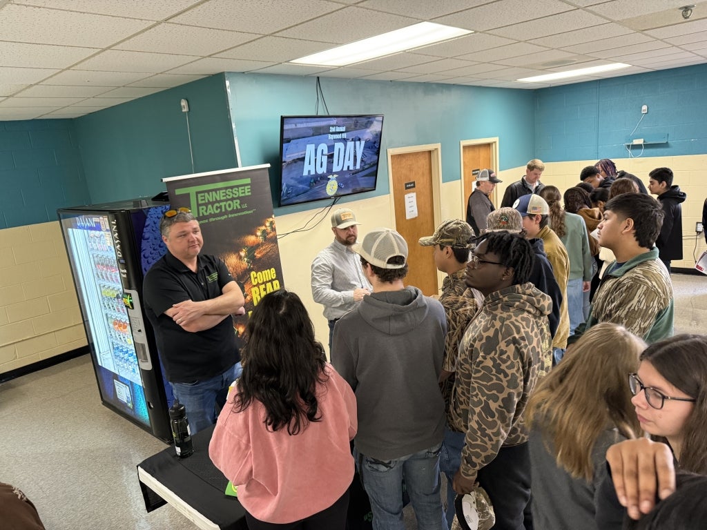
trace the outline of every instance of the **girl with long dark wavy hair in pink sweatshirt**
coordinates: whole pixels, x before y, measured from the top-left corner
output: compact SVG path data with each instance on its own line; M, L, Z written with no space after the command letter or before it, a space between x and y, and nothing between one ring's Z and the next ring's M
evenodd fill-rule
M295 293L255 306L243 375L209 443L238 488L250 530L344 530L354 458L356 398L334 371Z

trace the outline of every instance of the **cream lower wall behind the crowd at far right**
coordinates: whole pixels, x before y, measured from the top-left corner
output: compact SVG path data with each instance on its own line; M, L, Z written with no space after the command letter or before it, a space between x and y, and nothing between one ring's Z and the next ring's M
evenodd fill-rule
M613 160L619 170L633 173L643 180L645 187L648 187L650 170L655 167L672 169L673 184L677 184L687 194L687 199L682 204L683 259L672 261L671 266L694 269L695 259L707 249L704 235L695 234L695 223L702 220L702 206L707 198L707 155L614 158ZM552 184L564 192L579 182L579 174L583 167L594 165L596 162L596 160L575 160L546 163L542 183ZM500 172L498 178L503 180L503 184L498 184L496 205L501 204L503 192L506 191L508 184L520 179L521 175L525 175L525 167Z

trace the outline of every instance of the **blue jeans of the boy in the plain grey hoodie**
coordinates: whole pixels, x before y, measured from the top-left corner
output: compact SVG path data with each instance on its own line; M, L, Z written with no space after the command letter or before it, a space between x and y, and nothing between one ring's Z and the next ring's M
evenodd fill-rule
M402 483L415 510L417 527L443 530L440 500L439 456L442 444L393 460L376 460L360 454L354 458L363 488L370 498L373 530L405 530L402 518Z

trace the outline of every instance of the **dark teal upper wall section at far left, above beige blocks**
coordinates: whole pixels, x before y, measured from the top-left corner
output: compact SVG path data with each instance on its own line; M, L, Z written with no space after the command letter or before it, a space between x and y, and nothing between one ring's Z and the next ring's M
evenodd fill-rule
M57 220L57 208L86 204L71 119L0 122L0 229Z

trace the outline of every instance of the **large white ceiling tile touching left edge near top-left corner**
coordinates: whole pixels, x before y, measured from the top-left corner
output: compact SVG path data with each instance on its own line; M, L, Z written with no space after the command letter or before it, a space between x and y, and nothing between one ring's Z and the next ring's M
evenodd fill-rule
M57 11L7 4L2 8L2 40L104 48L152 25L151 20Z

